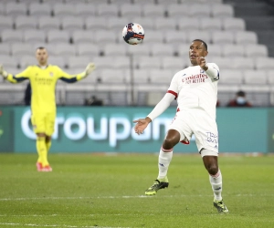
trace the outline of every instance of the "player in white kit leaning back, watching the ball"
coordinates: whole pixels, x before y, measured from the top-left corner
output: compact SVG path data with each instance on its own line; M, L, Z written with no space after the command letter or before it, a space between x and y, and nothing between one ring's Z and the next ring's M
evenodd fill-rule
M192 135L209 173L209 181L214 192L214 206L218 212L227 213L222 199L222 174L218 167L218 131L216 126L216 97L219 68L215 63L206 63L207 45L201 39L192 41L189 47L191 67L177 72L162 100L145 119L133 122L135 132L143 130L161 115L170 103L177 99L176 116L167 131L159 153L158 177L146 191L154 195L169 185L167 171L173 157L174 146L178 142L189 144Z

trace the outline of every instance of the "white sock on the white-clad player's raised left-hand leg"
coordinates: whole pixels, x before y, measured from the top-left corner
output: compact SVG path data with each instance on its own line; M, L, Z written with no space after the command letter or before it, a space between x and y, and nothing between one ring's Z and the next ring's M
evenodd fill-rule
M174 149L164 150L163 147L161 148L158 160L159 174L157 179L163 179L166 177L168 166L173 158L173 151Z

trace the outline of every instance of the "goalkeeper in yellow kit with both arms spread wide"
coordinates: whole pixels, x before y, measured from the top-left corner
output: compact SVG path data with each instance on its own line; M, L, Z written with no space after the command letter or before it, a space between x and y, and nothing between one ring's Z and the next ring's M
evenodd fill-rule
M54 132L56 118L55 89L58 79L72 83L86 78L95 69L90 63L78 75L68 75L62 69L47 64L47 49L38 47L36 50L37 65L26 69L13 76L0 65L0 75L11 83L29 79L31 84L31 122L37 134L37 171L52 171L48 161L47 152L51 146L51 135Z

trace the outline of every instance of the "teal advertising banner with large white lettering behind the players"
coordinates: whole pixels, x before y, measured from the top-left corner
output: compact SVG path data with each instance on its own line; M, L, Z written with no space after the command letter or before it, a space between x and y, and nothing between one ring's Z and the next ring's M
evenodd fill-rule
M36 135L26 107L3 108L10 115L1 126L11 132L0 138L0 151L36 152ZM142 135L135 134L133 119L144 118L152 108L58 107L50 152L157 152L175 109L167 109L153 120ZM273 109L217 109L220 152L273 151ZM0 131L1 132L1 131ZM3 138L2 138L3 139ZM8 143L5 141L9 141ZM4 145L4 146L3 146ZM195 138L190 145L179 143L175 152L197 152Z

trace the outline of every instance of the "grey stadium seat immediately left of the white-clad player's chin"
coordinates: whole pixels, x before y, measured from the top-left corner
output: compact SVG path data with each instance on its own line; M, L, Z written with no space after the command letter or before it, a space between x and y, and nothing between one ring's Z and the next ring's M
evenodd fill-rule
M188 66L185 57L163 57L162 67L163 69L171 69L173 71L179 71Z

